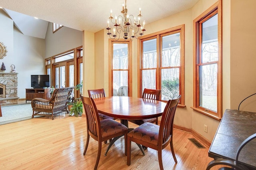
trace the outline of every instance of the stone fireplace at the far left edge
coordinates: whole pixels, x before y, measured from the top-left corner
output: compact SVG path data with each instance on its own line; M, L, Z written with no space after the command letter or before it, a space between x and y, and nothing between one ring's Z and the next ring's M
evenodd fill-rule
M2 105L18 103L18 73L0 72L0 101Z

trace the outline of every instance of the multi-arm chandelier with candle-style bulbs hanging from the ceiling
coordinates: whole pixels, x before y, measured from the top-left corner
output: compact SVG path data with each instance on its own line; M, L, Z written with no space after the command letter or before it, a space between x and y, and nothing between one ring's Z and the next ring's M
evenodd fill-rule
M123 10L121 11L120 16L115 16L115 20L113 20L114 18L112 17L112 10L110 10L110 17L108 20L108 26L107 26L107 30L108 30L108 35L111 39L114 39L115 41L119 40L120 38L120 34L124 34L124 40L127 40L128 38L130 38L130 40L132 41L133 38L136 39L140 39L140 37L143 35L145 28L145 21L141 24L141 8L139 8L139 15L138 15L138 20L136 20L136 17L134 17L133 15L128 15L127 14L127 8L126 8L126 0L125 0L125 6L124 4L123 6ZM110 28L110 22L112 24L114 24L111 28Z

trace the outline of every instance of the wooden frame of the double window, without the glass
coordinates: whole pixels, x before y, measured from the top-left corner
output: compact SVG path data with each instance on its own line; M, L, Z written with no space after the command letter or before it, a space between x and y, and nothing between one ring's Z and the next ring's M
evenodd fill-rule
M166 30L162 30L160 32L148 34L146 36L142 36L140 40L138 40L138 97L142 97L142 92L144 89L142 89L142 55L143 55L143 42L147 40L151 40L156 38L156 43L157 43L157 48L156 48L156 53L157 53L157 63L156 63L156 89L161 89L161 69L166 68L162 67L161 64L161 55L162 55L162 37L170 34L175 34L175 33L180 33L180 101L178 103L178 107L185 107L185 64L184 64L184 59L185 59L185 37L184 37L184 29L185 26L180 25L176 26L173 28L169 28Z

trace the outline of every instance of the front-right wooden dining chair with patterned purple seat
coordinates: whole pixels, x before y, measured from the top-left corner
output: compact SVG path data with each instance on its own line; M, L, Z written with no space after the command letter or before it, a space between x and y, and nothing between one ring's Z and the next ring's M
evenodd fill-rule
M131 164L131 141L136 144L142 144L143 146L152 148L158 151L158 162L160 169L163 170L162 162L162 149L164 149L170 143L172 156L177 163L177 159L174 153L173 147L173 121L174 115L180 95L177 99L169 100L164 108L161 123L155 125L153 123L143 123L139 127L135 128L127 134L127 165Z

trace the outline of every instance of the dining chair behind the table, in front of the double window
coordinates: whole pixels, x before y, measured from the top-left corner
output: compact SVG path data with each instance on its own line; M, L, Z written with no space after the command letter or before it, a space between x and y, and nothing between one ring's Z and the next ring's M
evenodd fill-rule
M144 89L142 98L144 99L152 99L152 100L160 100L160 93L161 90L155 90L155 89ZM150 122L150 123L156 123L158 125L158 118L152 118L152 119L142 119L142 120L129 120L132 123L135 123L136 125L142 125L143 123Z

